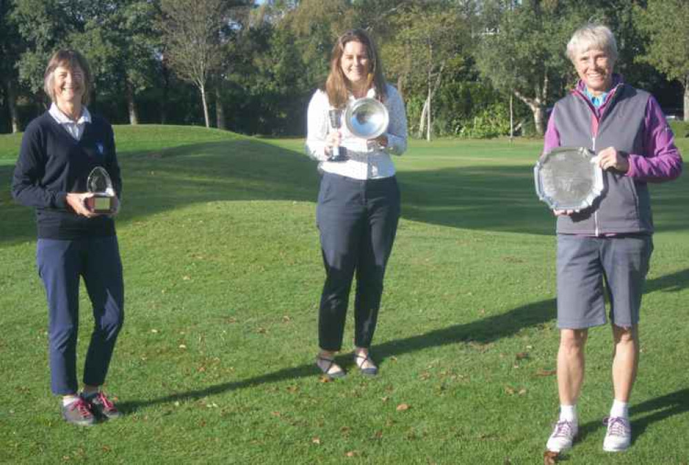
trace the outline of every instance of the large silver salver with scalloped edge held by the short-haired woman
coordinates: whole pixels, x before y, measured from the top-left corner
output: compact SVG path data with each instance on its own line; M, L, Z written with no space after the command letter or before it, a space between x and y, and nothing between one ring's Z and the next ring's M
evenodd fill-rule
M536 194L553 210L583 210L605 187L595 153L583 147L558 147L534 167Z

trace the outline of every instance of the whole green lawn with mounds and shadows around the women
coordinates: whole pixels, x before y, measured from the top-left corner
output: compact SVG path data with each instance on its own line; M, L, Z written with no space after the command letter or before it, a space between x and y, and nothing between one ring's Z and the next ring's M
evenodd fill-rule
M106 387L127 415L88 430L63 424L50 395L32 212L7 188L20 139L0 136L0 461L542 461L558 333L553 220L532 186L540 141L412 141L396 160L403 217L373 348L381 375L361 377L346 353L348 377L323 383L312 364L318 177L303 141L161 126L116 133L127 317ZM689 139L678 144L689 153ZM686 177L652 186L658 233L635 444L601 451L611 344L609 328L597 328L572 464L688 463L688 194ZM81 308L80 361L92 324L85 297ZM351 330L350 317L346 341Z

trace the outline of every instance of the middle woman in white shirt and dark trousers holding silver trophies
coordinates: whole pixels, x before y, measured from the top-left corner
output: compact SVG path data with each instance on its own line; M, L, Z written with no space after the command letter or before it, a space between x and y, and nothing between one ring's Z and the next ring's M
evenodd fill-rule
M330 110L343 113L348 103L363 97L375 98L388 109L390 123L376 139L356 137L346 125L335 128L329 118ZM341 350L355 271L355 362L364 375L378 372L369 348L400 215L390 155L401 155L406 145L404 104L383 78L375 43L363 30L345 32L332 49L326 84L309 104L306 140L308 155L319 161L322 173L316 216L326 283L316 364L330 378L345 375L334 355Z

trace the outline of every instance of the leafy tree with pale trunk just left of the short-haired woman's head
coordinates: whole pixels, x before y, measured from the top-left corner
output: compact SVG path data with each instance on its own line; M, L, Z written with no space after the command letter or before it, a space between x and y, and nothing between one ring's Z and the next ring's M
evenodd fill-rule
M538 135L545 130L551 88L572 75L572 65L565 57L567 42L586 22L584 13L574 8L575 3L507 1L497 28L483 32L477 49L481 74L496 88L528 105Z

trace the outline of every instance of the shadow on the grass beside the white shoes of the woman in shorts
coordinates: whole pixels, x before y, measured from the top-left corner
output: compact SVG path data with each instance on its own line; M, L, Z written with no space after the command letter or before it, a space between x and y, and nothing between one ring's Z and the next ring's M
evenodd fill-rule
M639 436L643 435L646 428L651 424L687 412L689 412L689 388L676 390L674 393L655 397L641 402L641 404L632 404L630 408L632 444L636 442ZM606 426L601 421L583 424L579 427L577 441L581 441L586 436L605 428Z

